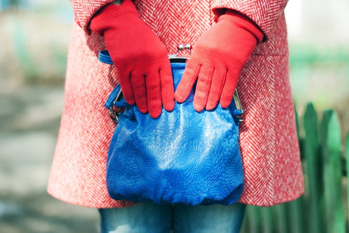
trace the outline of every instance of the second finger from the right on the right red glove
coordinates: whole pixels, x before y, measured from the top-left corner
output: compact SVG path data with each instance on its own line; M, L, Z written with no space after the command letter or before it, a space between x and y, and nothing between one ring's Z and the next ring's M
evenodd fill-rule
M206 103L206 110L212 110L217 106L222 95L226 75L227 70L225 68L215 70Z

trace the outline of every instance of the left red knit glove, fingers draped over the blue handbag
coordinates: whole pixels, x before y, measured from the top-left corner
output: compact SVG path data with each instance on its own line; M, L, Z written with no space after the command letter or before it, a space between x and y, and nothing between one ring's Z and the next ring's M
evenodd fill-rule
M91 29L104 36L117 68L127 103L151 117L174 109L174 84L167 49L140 19L131 0L107 4L91 20Z

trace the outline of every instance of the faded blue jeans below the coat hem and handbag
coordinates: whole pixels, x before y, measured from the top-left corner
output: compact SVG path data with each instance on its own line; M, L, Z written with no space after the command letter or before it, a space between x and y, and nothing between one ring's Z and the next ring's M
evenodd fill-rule
M156 205L99 209L101 233L238 233L245 204Z

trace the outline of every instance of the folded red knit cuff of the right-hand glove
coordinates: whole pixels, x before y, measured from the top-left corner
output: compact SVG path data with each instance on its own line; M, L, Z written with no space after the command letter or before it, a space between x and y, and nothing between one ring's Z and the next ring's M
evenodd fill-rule
M257 40L257 44L261 43L264 37L263 31L254 23L252 19L237 11L228 9L224 15L221 15L218 22L228 20L239 28L251 32Z

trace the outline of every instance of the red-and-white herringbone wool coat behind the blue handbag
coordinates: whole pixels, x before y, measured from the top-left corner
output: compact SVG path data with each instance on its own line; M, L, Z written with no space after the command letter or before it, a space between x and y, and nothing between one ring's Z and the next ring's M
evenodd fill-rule
M68 55L65 104L48 192L65 202L95 208L123 207L105 185L106 157L115 125L103 104L118 83L115 68L97 61L103 38L91 33L95 12L112 0L71 0L76 24ZM241 203L270 206L298 198L303 177L288 80L284 8L287 0L138 0L140 17L173 54L195 41L222 9L249 16L263 30L244 67L238 92L245 188ZM79 25L79 26L78 26Z

